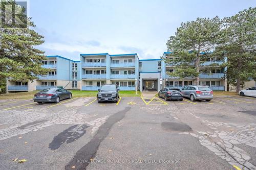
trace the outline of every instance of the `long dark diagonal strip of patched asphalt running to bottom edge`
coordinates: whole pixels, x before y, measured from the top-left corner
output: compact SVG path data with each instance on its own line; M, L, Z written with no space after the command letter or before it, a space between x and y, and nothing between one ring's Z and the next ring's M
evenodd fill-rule
M123 119L130 109L131 107L125 107L124 110L111 115L106 122L99 127L95 136L76 152L75 156L65 166L65 169L86 169L91 160L95 157L100 143L109 134L112 126Z

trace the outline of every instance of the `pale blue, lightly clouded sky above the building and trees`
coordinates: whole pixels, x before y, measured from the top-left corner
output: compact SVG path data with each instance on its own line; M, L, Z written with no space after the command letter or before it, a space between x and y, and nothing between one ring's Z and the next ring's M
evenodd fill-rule
M159 58L182 22L221 18L255 7L254 0L30 0L28 15L46 55L137 53Z

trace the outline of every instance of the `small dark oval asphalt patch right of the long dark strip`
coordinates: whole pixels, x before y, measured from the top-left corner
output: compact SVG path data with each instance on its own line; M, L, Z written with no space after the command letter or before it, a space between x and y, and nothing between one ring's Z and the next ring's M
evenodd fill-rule
M175 122L162 122L161 126L164 130L169 131L179 131L179 132L190 132L192 129L183 123L175 123Z

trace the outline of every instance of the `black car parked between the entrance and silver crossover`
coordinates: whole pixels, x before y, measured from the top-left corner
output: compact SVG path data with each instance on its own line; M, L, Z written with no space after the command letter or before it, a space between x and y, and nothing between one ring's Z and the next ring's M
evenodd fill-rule
M183 101L183 93L179 88L164 88L158 92L159 98Z

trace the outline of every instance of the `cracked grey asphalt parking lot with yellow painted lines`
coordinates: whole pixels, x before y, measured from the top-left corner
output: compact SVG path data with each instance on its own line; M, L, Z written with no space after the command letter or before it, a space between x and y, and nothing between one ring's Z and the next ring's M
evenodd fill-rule
M256 98L2 100L0 140L3 169L256 169Z

